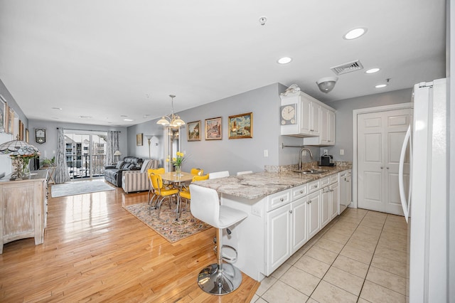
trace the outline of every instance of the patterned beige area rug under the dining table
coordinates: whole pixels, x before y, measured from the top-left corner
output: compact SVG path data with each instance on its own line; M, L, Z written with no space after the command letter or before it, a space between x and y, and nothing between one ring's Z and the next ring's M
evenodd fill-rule
M156 209L152 209L149 215L148 203L132 204L124 206L124 208L170 243L177 242L178 240L210 228L210 225L200 220L197 220L197 223L195 223L192 220L193 216L191 216L190 211L185 211L184 209L180 218L176 221L176 206L173 204L172 209L169 209L167 202L161 206L159 218L158 210Z

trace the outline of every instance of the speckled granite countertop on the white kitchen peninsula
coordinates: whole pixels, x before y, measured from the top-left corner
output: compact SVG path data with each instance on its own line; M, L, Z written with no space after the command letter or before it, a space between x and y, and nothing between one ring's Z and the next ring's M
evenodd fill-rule
M257 199L330 176L331 174L338 174L340 171L351 169L351 166L319 166L315 169L326 170L327 172L317 175L299 174L292 171L260 172L241 176L230 176L220 179L197 181L195 184L213 188L218 191L218 193L225 193L240 198Z

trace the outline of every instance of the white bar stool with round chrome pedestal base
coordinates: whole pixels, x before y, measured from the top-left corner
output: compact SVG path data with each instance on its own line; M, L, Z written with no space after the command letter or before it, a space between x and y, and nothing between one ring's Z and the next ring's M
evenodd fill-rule
M220 205L218 193L215 189L205 188L196 184L190 185L191 191L191 214L195 218L217 228L216 264L205 267L198 275L198 285L209 294L229 294L242 283L242 272L230 263L223 263L224 260L235 262L237 257L223 257L223 228L228 228L237 222L247 218L245 211L240 211L229 206ZM232 250L228 245L225 245ZM237 255L237 250L235 250Z

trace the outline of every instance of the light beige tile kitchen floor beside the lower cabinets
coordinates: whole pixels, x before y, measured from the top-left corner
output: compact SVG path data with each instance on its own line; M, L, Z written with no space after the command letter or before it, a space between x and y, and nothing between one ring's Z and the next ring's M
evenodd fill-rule
M404 217L348 208L262 280L251 302L408 302Z

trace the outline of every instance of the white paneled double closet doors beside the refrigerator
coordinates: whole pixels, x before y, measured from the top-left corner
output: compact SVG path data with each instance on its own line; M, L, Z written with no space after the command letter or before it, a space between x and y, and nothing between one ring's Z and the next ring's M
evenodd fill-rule
M398 189L398 165L412 110L358 115L358 207L403 216ZM409 182L410 156L405 159Z

